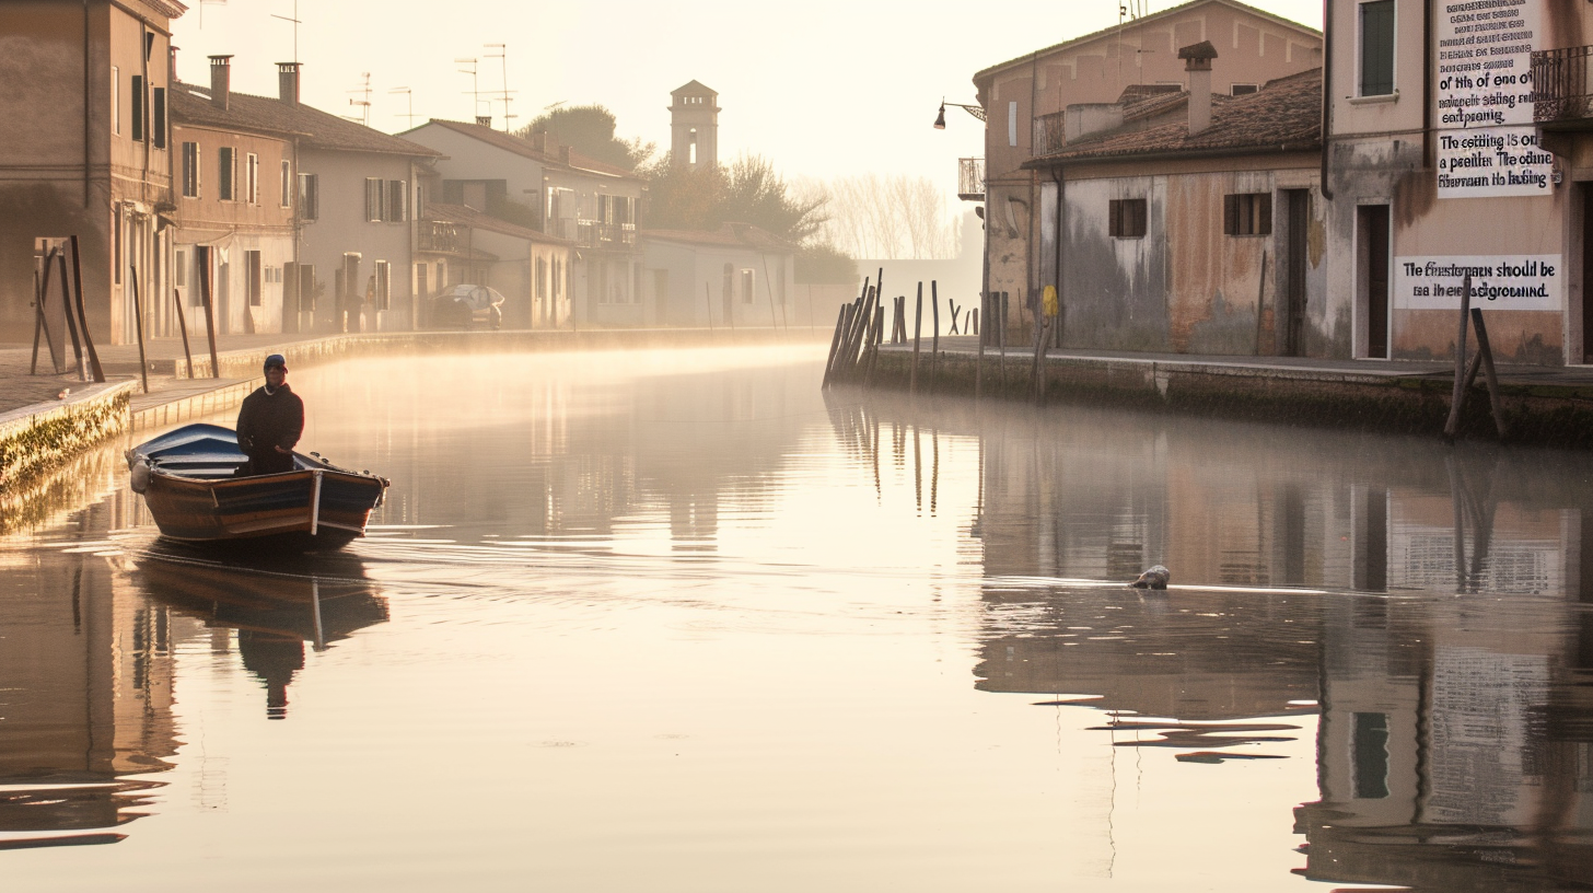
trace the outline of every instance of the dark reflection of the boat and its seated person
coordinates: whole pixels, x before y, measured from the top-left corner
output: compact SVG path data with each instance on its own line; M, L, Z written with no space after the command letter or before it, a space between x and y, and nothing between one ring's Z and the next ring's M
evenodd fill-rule
M288 684L304 668L304 643L327 651L357 630L387 620L387 600L344 553L229 555L159 541L139 561L148 595L217 630L237 630L244 670L266 686L266 716L284 719Z

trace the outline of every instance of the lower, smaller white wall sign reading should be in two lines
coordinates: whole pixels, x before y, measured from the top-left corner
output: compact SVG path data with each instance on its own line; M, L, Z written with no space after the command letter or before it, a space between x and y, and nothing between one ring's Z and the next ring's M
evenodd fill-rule
M1564 263L1558 254L1394 258L1397 309L1459 309L1461 285L1472 277L1472 306L1483 309L1561 309Z

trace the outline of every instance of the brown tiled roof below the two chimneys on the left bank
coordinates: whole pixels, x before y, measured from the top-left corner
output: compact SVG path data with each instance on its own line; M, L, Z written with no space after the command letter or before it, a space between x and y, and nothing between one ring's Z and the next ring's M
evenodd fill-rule
M228 107L217 108L210 102L207 88L186 83L172 85L170 102L172 121L177 124L299 137L301 145L311 148L443 158L443 153L433 148L374 131L365 124L355 124L304 104L288 105L280 99L233 91L226 100Z

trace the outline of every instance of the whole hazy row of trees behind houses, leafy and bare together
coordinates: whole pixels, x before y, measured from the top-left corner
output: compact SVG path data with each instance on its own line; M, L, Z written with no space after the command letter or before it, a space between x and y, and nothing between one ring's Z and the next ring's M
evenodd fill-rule
M602 105L545 112L516 136L538 132L645 179L648 226L717 230L731 222L752 223L798 246L796 269L806 281L852 282L855 257L929 260L957 252L961 225L927 177L867 174L789 183L758 155L690 171L671 164L656 144L616 136L615 116Z

